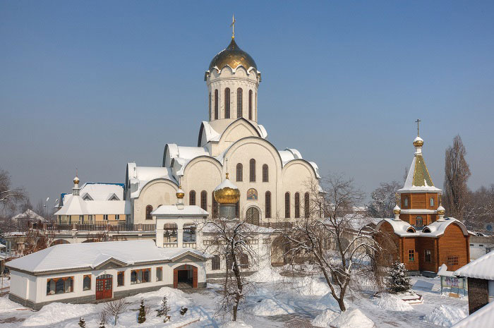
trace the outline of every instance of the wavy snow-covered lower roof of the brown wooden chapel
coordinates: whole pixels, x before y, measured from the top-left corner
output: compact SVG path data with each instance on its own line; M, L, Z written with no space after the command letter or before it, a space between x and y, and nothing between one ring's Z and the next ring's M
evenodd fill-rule
M379 229L383 222L387 222L391 224L394 233L396 233L400 237L406 237L406 236L439 237L445 233L447 226L449 226L454 222L459 225L460 229L462 229L465 236L468 236L469 234L464 224L462 224L461 221L454 219L453 217L447 217L443 221L434 221L428 226L423 226L422 230L416 229L416 227L411 226L411 224L409 224L406 221L403 220L395 221L394 219L382 219L382 221L378 223L376 229ZM412 229L415 232L411 232Z

